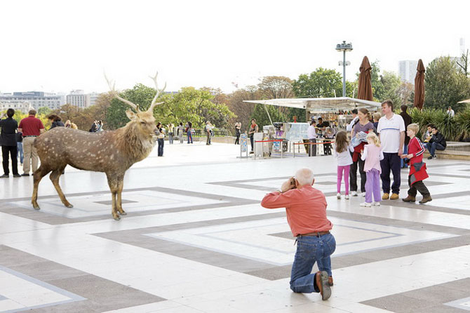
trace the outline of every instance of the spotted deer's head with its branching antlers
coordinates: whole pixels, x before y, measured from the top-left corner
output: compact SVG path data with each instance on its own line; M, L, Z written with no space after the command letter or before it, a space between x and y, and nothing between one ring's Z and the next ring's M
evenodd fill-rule
M112 94L116 99L121 100L122 102L130 105L135 112L131 109L126 110L126 115L130 121L135 123L137 129L140 131L142 134L147 134L147 135L159 135L160 132L156 128L155 125L155 117L154 117L154 107L156 105L161 105L163 102L156 102L156 99L159 98L159 95L165 90L166 88L166 83L163 88L159 89L159 84L156 81L156 76L158 76L158 72L156 72L155 76L150 76L150 78L154 81L155 87L156 87L156 95L154 97L154 100L152 100L152 104L150 105L149 109L147 111L140 111L139 107L135 105L133 102L130 102L129 100L126 100L124 98L121 98L119 94L117 93L116 89L114 88L115 84L109 81L107 79L106 74L105 78L106 81L109 85L109 89L111 89ZM137 113L136 113L137 112Z

